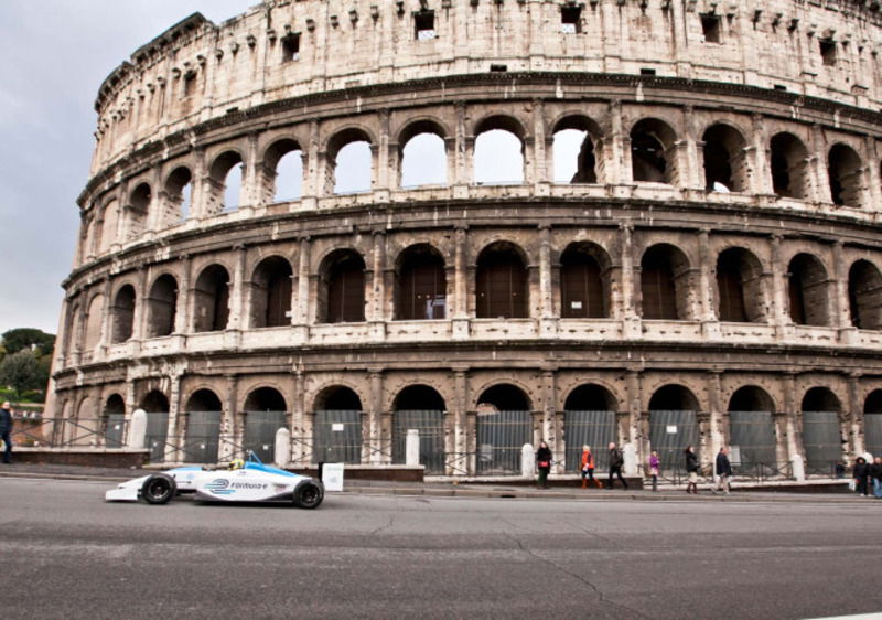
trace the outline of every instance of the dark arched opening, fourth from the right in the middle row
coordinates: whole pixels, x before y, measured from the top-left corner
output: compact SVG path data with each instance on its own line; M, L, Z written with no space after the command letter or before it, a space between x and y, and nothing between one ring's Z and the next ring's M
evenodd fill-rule
M679 248L657 244L641 259L641 309L644 319L686 321L692 318L689 259Z

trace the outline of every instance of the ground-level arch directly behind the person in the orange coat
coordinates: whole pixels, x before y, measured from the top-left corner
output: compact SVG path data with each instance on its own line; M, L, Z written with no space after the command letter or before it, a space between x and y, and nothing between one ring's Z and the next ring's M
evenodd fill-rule
M563 405L563 438L567 442L567 471L581 468L582 446L591 448L598 470L610 464L611 441L619 441L615 428L615 397L601 385L583 384L573 389Z

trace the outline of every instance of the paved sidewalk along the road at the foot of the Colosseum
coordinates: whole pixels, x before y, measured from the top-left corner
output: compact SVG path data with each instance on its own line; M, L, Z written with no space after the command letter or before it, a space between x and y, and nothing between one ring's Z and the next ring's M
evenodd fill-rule
M0 478L50 478L54 480L84 480L114 483L155 473L146 469L114 469L82 466L13 463L0 466ZM552 482L553 483L553 482ZM765 487L764 489L770 489ZM662 487L657 492L632 491L616 488L581 489L579 487L552 487L536 489L523 484L504 482L477 483L455 481L429 482L384 482L353 480L344 483L344 493L363 495L421 495L427 498L478 498L478 499L544 499L544 500L610 500L610 501L687 501L687 502L798 502L798 503L865 503L870 498L860 498L843 492L783 492L774 490L755 491L738 485L731 495L714 495L709 487L700 488L698 495L689 495L680 488ZM882 501L878 502L882 506Z

